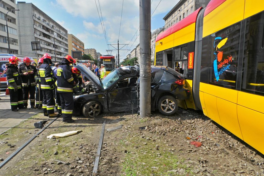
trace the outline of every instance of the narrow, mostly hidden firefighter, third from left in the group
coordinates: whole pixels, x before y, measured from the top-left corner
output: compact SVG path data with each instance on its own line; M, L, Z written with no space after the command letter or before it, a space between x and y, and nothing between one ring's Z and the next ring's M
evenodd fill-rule
M41 109L42 108L42 101L43 101L43 94L42 90L39 86L40 83L40 75L39 75L39 67L43 63L43 58L40 58L38 60L38 65L37 65L37 72L35 74L35 81L36 81L36 108Z

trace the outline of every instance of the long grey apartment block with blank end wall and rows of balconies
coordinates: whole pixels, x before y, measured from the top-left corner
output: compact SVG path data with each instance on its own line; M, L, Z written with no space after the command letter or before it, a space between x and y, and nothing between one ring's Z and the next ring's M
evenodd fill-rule
M19 50L22 55L49 53L52 60L61 61L69 54L68 31L32 3L17 2ZM41 50L32 51L31 41L40 41ZM56 58L55 58L56 55Z

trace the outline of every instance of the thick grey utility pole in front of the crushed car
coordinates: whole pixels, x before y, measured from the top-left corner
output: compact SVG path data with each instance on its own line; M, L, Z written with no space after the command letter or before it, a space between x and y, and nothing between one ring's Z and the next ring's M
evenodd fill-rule
M139 1L140 118L151 116L151 2Z

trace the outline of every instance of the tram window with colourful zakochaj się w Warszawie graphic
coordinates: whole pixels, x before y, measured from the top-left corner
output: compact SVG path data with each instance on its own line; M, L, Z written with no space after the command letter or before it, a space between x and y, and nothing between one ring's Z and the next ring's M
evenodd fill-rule
M211 35L209 84L236 88L240 22Z

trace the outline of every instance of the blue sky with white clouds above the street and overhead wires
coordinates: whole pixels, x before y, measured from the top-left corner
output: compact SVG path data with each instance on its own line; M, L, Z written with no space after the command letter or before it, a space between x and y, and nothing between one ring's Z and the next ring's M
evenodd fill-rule
M119 44L129 44L125 47L119 45L119 48L128 49L119 50L120 62L139 44L140 0L17 0L19 1L33 3L68 30L68 34L73 34L84 42L85 48L95 48L96 52L103 55L108 54L106 50L113 50L111 54L117 55L115 48L107 44L117 44L118 40ZM151 31L164 26L164 16L178 2L179 0L151 0ZM117 45L114 46L117 48Z

